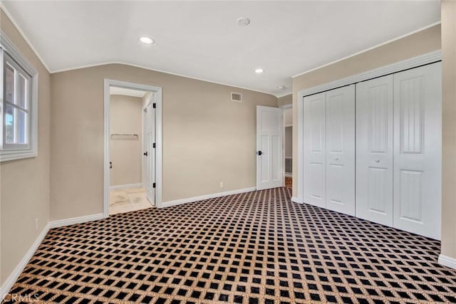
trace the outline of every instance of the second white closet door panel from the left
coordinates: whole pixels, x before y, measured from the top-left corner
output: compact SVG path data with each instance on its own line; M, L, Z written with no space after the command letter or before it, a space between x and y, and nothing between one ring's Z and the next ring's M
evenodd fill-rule
M355 85L326 92L326 208L355 215Z

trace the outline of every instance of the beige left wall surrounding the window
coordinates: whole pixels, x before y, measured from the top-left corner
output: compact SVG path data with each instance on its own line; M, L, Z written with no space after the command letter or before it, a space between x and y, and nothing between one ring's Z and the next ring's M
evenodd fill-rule
M39 73L38 157L0 163L0 284L3 284L48 224L50 76L1 9L0 28ZM36 218L38 230L35 230Z

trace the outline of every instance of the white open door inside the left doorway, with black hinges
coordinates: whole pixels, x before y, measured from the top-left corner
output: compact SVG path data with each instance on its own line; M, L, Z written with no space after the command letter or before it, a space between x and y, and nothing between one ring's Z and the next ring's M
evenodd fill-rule
M146 108L146 145L145 145L145 164L146 164L146 196L152 205L155 205L155 108L153 103L149 103Z

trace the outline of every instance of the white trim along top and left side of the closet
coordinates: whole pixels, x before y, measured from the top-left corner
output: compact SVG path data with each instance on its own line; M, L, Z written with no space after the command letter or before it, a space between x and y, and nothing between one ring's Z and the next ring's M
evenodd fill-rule
M296 181L298 184L298 197L296 197L297 201L304 201L304 143L303 143L303 124L304 124L304 106L303 100L304 96L312 95L316 93L321 93L326 90L332 90L334 88L339 88L344 85L350 85L352 83L359 83L360 81L368 80L371 78L376 78L384 75L388 75L390 73L397 73L401 70L407 70L409 68L416 68L420 65L425 65L429 63L433 63L436 61L442 60L442 51L432 51L430 53L425 53L420 56L416 56L413 58L408 58L404 61L398 61L396 63L392 63L390 65L385 65L380 68L375 68L373 70L368 70L363 73L359 73L356 75L351 75L346 78L338 79L335 81L331 81L330 83L325 83L323 85L317 85L312 88L306 88L304 90L299 90L297 94L297 110L298 110L298 180Z

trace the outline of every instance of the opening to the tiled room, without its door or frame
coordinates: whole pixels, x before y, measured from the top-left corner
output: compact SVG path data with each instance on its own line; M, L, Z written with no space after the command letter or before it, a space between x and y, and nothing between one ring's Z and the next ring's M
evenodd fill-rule
M109 214L150 208L145 191L142 145L147 92L110 87ZM150 94L150 93L149 93Z

